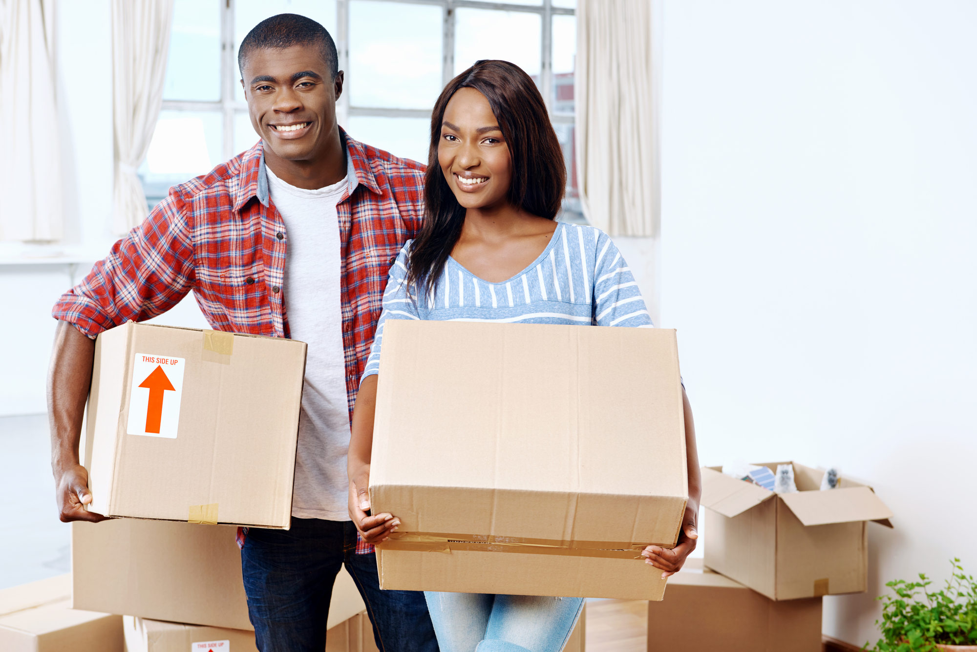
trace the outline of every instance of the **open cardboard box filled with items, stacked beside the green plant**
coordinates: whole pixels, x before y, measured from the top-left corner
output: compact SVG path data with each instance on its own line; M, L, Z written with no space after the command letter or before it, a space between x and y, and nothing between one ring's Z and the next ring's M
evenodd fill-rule
M791 463L763 466L778 464ZM871 487L842 477L820 491L824 469L792 464L792 494L702 469L705 565L775 600L868 591L866 521L892 527L892 511Z

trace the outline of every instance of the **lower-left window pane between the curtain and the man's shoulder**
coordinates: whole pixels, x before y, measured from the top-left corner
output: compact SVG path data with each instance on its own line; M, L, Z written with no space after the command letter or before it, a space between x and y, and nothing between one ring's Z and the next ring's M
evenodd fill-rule
M220 111L159 112L149 153L139 167L149 206L166 196L171 185L206 174L221 156Z

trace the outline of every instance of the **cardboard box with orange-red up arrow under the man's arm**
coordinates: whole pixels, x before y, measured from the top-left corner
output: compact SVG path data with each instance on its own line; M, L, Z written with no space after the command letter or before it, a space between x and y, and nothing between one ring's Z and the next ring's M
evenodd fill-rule
M287 528L306 345L129 322L102 333L89 509Z

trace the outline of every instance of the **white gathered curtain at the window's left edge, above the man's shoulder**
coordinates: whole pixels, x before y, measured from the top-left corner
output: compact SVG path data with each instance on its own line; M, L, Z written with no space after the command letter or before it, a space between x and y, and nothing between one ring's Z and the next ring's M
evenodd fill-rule
M148 214L136 170L146 158L163 102L172 18L173 0L112 0L116 233L125 233Z

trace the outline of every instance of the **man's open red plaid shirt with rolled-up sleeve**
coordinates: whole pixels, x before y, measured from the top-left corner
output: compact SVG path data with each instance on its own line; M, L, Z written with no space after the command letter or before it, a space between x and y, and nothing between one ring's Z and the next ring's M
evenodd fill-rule
M336 205L346 394L352 416L390 265L423 218L424 166L346 140L348 189ZM54 306L94 339L162 314L191 290L217 331L287 338L282 281L288 231L268 189L262 143L170 188ZM360 542L358 552L371 547Z

